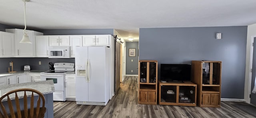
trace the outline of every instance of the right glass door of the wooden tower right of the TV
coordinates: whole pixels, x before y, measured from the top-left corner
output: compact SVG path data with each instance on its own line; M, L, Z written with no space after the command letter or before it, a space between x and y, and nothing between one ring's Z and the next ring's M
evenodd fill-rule
M220 63L212 63L212 85L220 85Z

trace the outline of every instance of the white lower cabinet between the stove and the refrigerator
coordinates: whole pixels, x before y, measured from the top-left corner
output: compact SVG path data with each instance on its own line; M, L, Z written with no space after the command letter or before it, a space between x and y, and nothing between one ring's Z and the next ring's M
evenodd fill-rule
M74 99L76 98L76 77L75 75L66 75L65 76L65 94L66 98Z

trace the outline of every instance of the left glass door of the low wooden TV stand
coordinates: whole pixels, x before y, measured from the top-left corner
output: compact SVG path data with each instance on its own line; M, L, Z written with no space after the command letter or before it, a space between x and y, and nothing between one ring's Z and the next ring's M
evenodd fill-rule
M176 103L176 86L161 86L161 102L174 102Z

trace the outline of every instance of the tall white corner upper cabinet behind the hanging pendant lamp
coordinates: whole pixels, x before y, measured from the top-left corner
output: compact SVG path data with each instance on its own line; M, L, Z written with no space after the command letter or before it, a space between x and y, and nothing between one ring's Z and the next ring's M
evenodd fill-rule
M16 57L34 57L35 50L35 39L36 35L43 35L43 33L38 31L28 31L28 37L32 44L30 43L20 43L24 33L21 29L6 29L6 32L14 33L14 43L15 43L15 53Z

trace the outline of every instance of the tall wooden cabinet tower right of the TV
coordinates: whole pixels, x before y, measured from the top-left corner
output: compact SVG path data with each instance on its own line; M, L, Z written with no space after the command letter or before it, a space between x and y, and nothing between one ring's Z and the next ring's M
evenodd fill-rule
M221 61L192 61L191 81L198 86L200 107L220 107Z

